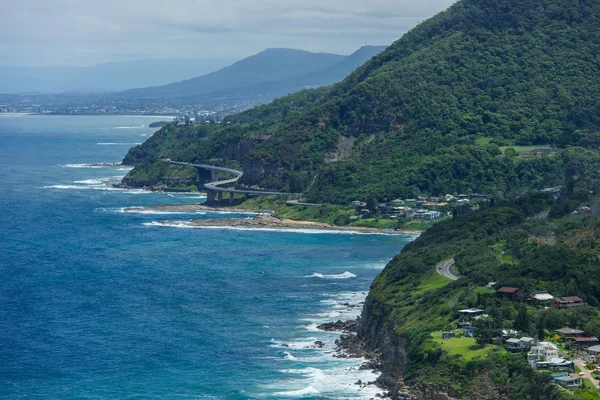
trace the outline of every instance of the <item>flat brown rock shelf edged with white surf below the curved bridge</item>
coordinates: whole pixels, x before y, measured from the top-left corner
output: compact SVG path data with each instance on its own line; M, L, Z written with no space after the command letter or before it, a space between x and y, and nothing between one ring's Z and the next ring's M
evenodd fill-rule
M167 220L154 221L153 225L162 226L184 226L189 228L262 228L262 229L314 229L329 231L346 231L356 233L383 233L390 235L419 235L419 231L394 231L377 228L362 228L355 226L337 226L314 221L297 221L292 219L278 218L271 214L269 210L247 210L241 208L218 208L203 205L187 204L174 206L151 206L143 208L126 208L125 212L142 211L208 211L208 212L229 212L229 213L257 213L253 218L219 218L219 219L195 219L195 220Z

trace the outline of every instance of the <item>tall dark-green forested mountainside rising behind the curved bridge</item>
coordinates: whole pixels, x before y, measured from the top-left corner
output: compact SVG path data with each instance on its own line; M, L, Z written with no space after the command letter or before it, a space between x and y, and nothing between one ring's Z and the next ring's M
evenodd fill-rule
M462 0L343 82L231 116L168 154L235 159L260 171L247 183L315 201L504 195L567 180L597 190L598 54L596 1Z

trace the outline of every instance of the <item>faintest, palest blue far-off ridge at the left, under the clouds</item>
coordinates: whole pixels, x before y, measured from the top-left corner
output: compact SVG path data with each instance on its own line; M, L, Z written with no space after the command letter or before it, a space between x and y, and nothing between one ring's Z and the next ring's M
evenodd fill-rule
M230 59L134 60L91 67L0 66L0 93L110 92L189 79Z

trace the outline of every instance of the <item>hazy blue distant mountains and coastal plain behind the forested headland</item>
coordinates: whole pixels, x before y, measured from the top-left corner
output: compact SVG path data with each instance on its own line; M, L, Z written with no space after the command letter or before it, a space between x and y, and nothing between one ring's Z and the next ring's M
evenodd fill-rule
M172 61L160 60L72 69L0 67L0 111L170 115L209 112L221 118L302 89L339 82L385 47L364 46L348 56L267 49L219 70L214 68L209 73L206 73L208 65L223 61L179 60L177 67ZM201 65L194 67L194 62ZM35 75L32 71L39 77L32 78ZM190 79L116 90L132 87L134 83L164 83L169 76L182 77L185 74ZM24 90L27 92L19 92Z

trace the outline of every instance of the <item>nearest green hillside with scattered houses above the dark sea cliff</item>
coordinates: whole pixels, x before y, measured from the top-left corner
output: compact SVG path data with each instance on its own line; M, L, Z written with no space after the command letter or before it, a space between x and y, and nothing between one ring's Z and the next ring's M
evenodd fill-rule
M593 388L573 393L551 385L553 371L532 370L526 353L509 353L499 341L502 329L518 330L518 337L554 341L562 357L575 359L578 353L554 330L569 326L600 336L600 219L564 208L587 204L587 196L554 201L533 194L438 223L406 246L371 285L362 315L361 336L381 352L388 385L402 380L427 399L436 392L473 400L600 399ZM531 218L548 209L550 218ZM436 273L450 258L460 275L454 282ZM519 288L525 297L501 298L489 282ZM554 309L526 301L539 290L579 296L587 305ZM467 319L478 329L475 338L456 329L464 321L458 311L471 307L485 312ZM442 331L458 337L443 340Z

